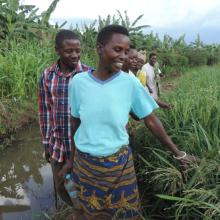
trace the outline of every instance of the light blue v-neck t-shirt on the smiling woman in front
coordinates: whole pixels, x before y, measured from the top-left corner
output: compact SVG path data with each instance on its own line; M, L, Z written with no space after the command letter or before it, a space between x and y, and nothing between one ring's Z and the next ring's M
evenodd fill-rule
M80 118L76 147L93 156L109 156L127 145L126 125L132 111L144 118L158 108L138 79L120 71L101 81L91 71L77 74L69 84L71 115Z

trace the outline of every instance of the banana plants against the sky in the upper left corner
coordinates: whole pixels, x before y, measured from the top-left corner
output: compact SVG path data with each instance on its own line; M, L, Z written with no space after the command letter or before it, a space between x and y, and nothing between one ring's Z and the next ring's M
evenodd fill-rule
M54 0L48 10L37 15L38 9L34 5L21 5L19 0L0 1L0 41L10 48L11 41L19 42L21 39L32 40L44 38L54 32L49 25L51 13L59 1Z

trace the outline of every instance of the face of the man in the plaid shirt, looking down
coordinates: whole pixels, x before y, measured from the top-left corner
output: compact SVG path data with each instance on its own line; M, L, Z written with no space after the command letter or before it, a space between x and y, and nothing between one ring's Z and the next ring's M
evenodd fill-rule
M76 68L80 59L80 41L77 39L65 39L60 46L55 47L60 56L61 65L72 71Z

